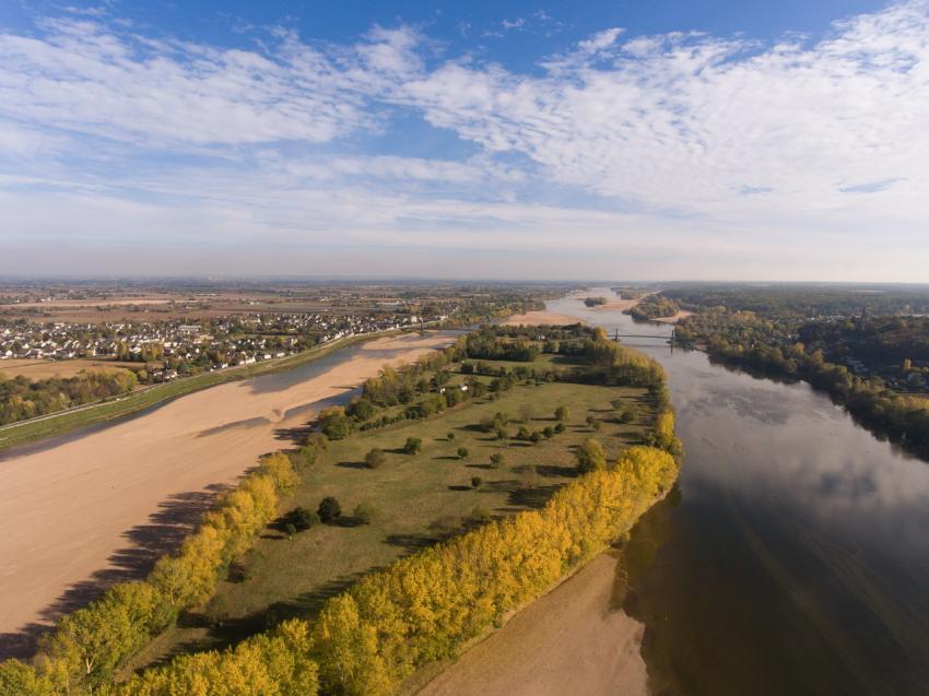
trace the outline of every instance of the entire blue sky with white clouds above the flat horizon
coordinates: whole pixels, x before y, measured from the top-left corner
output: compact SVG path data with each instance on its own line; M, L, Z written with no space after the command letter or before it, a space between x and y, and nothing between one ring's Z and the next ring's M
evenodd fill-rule
M929 0L2 0L0 274L929 282Z

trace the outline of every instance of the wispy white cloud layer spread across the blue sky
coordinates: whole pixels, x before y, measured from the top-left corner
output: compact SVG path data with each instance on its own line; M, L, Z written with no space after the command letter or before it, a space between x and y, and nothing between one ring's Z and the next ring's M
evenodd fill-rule
M663 253L667 269L713 249L725 261L706 268L726 270L750 253L787 263L802 243L833 275L856 257L893 268L894 241L929 255L926 0L769 45L609 27L527 72L437 59L403 25L344 45L249 30L261 47L244 50L69 14L0 35L0 245L162 228L421 253L599 248L626 264ZM470 154L368 151L398 115Z

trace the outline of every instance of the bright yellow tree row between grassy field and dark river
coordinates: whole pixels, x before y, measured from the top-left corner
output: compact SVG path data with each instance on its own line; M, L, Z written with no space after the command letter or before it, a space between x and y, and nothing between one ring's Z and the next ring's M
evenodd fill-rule
M330 599L313 625L290 621L234 649L179 658L101 693L397 693L418 668L456 654L627 531L677 472L669 453L631 448L542 510L486 523L364 578Z

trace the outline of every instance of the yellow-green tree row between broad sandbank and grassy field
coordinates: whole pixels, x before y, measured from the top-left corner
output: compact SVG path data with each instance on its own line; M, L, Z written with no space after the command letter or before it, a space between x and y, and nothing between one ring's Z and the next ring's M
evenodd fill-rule
M202 604L213 594L230 563L277 516L279 496L296 483L289 456L262 458L255 471L204 515L177 553L158 559L145 580L116 585L86 607L64 616L42 638L33 664L19 660L0 664L0 694L105 692L115 674L153 636L170 626L181 611ZM289 645L286 628L282 630L262 637L250 649L255 653L273 652ZM200 664L202 658L193 656L190 660ZM298 681L309 683L308 679L302 675ZM207 685L209 693L219 693L209 681L201 683L200 693L207 693L202 691Z

